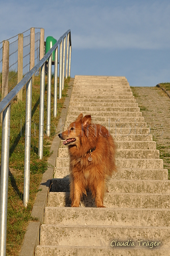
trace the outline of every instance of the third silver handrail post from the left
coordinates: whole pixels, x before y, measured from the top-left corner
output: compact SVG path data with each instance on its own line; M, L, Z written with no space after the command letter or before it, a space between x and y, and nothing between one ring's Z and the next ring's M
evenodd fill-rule
M43 135L44 135L44 90L45 89L45 63L41 66L41 82L39 97L39 140L38 140L38 156L43 158Z

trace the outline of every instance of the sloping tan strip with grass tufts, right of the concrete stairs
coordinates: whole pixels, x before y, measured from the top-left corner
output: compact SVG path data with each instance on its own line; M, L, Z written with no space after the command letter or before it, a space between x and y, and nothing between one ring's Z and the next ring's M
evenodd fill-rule
M160 87L164 87L164 89L170 91L170 83L160 83ZM170 179L170 143L169 143L169 125L168 118L169 112L166 113L166 110L169 109L169 105L164 105L164 97L167 96L162 90L157 89L157 87L131 87L132 93L136 98L137 103L139 103L140 111L143 113L145 118L145 122L151 125L151 134L153 135L153 141L156 141L156 149L160 151L160 158L163 159L164 168L168 169L168 179ZM144 90L144 89L147 89ZM141 92L143 91L143 93ZM150 93L153 93L153 90L158 91L157 97L155 97L155 105L152 106L152 102L148 101L149 98L149 90ZM159 97L163 97L163 101L158 101ZM161 107L160 107L161 106ZM164 109L164 111L163 111ZM157 121L157 119L159 121ZM156 134L162 133L163 136L154 135L153 125L157 123L162 124L160 130L155 130ZM168 126L167 126L168 125Z

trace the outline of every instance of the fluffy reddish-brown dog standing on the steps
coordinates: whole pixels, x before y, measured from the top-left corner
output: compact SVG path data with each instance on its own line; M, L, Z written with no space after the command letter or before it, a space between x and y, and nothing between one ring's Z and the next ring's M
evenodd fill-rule
M70 154L71 206L79 207L80 199L89 189L97 207L103 206L107 180L115 166L115 143L106 127L94 125L91 115L80 114L68 129L59 134Z

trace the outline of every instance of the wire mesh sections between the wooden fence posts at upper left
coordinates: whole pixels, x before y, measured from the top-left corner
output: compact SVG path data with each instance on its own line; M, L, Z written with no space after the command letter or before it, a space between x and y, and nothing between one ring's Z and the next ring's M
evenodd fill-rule
M40 31L41 28L35 28L35 65L39 62L40 56ZM23 76L30 71L30 29L23 33ZM9 41L9 92L18 83L18 35L6 39ZM3 55L3 42L0 42L0 90L2 92L2 59ZM39 71L35 75L39 75ZM0 92L0 100L2 98Z

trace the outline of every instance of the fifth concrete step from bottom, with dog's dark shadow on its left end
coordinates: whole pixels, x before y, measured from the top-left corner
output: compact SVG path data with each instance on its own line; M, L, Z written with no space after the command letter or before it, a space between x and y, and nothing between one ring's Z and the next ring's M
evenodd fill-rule
M169 194L170 181L145 179L114 179L107 183L109 193ZM69 192L69 179L52 179L52 192Z

